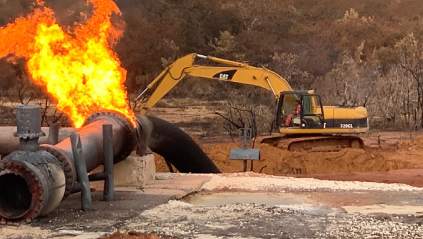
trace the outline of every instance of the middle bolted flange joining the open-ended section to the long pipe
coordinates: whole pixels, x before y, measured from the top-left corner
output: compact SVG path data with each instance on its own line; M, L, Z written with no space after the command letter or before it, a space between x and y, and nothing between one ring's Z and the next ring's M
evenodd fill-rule
M42 150L47 151L48 153L51 153L60 161L60 163L63 164L64 177L66 177L66 186L64 187L64 195L62 199L63 201L64 199L69 197L72 192L72 188L74 187L74 184L77 181L77 170L75 169L74 162L72 161L72 158L69 158L67 153L65 153L61 148L58 148L57 146L50 144L42 144L40 145L40 148Z

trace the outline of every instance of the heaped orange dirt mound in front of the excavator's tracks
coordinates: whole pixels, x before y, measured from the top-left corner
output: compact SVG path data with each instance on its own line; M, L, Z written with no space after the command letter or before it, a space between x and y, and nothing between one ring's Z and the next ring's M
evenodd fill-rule
M422 144L423 145L423 144ZM239 148L238 144L218 144L203 146L203 150L218 165L222 173L242 171L243 162L230 160L230 149ZM303 153L290 152L268 144L256 144L260 148L260 160L254 161L253 171L268 175L311 174L311 173L351 173L351 172L386 172L407 168L407 163L389 160L377 151L344 148L339 152ZM162 157L156 158L157 172L169 172ZM248 161L247 170L251 163Z

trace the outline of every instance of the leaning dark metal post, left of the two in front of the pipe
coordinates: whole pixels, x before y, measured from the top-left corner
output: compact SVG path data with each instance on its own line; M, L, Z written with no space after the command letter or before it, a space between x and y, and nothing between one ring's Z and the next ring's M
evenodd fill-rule
M72 134L69 137L72 144L72 153L74 155L78 181L81 184L82 210L90 211L92 208L91 191L89 189L88 172L86 171L84 153L82 152L81 137L79 136L79 134Z

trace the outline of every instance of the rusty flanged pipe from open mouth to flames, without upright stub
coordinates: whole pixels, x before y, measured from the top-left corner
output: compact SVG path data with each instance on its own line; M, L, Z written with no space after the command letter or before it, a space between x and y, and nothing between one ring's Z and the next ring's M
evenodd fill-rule
M114 163L135 147L135 129L117 112L96 112L77 132L88 170L103 163L103 124L113 125ZM77 178L70 139L41 151L15 151L0 161L0 223L30 223L55 209Z

